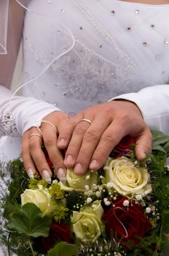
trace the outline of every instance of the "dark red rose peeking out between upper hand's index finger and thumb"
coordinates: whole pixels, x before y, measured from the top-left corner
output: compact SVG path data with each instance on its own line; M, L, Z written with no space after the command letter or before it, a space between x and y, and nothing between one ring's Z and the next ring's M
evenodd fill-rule
M122 157L124 154L128 154L130 152L131 144L134 144L135 140L130 136L125 136L120 140L117 146L114 147L113 151L111 151L111 157Z

